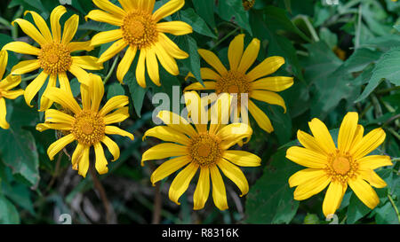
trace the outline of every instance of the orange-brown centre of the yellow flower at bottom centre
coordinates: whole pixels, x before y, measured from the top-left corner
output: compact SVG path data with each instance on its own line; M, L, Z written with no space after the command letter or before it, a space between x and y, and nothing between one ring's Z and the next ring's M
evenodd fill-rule
M192 162L200 167L215 165L222 156L220 138L209 133L201 133L193 137L188 150Z

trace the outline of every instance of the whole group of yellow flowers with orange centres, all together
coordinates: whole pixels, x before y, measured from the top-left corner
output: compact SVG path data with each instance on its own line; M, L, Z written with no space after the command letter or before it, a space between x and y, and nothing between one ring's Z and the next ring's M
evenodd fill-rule
M100 76L87 71L100 70L103 67L102 63L126 49L124 58L116 69L116 77L123 83L124 76L132 66L136 53L140 51L136 66L137 82L141 87L146 87L147 70L151 81L159 86L161 82L158 62L168 73L178 75L180 71L175 59L188 58L188 53L181 51L165 33L171 35L192 33L192 27L185 22L161 21L179 11L185 4L184 0L171 0L155 12L155 0L118 0L121 7L108 0L92 0L92 2L100 10L92 10L85 16L85 20L105 22L116 26L116 29L100 32L87 42L74 42L72 40L76 35L79 17L76 14L72 15L65 22L61 33L60 18L67 12L64 6L60 5L52 11L50 28L39 14L27 11L25 14L31 14L36 27L23 19L14 20L12 24L17 23L25 34L38 43L38 47L24 42L12 42L5 44L0 52L0 77L3 76L5 66L7 66L7 51L35 57L13 66L11 74L0 82L0 127L9 128L5 119L4 98L14 99L23 95L27 105L31 105L33 98L48 80L44 94L39 97L39 111L45 112L44 123L37 124L36 129L39 131L61 130L64 135L48 148L47 153L51 160L66 145L76 142L71 162L72 168L78 170L81 176L87 174L92 146L95 152L95 168L100 174L108 172L108 160L104 155L102 144L107 146L114 160L118 159L119 147L107 135L120 135L133 140L131 133L111 125L129 117L127 106L129 98L116 96L100 107L104 96L103 82ZM253 1L247 2L253 4ZM111 42L113 43L100 55L99 59L92 56L73 55L78 51L92 51L95 46ZM244 35L237 35L228 48L229 68L227 69L212 51L198 50L200 56L212 68L201 68L202 79L208 81L204 84L192 83L184 90L187 106L190 99L190 102L197 103L200 113L205 112L200 96L193 90L213 90L216 94L220 94L216 102L220 104L217 108L220 113L230 108L229 102L222 99L227 98L224 93L239 95L246 93L249 98L271 105L280 105L286 112L284 99L276 92L290 88L293 78L267 77L284 65L284 59L277 56L263 60L249 71L259 51L260 40L252 39L252 42L244 49ZM39 74L28 84L26 90L12 90L20 84L20 74L27 74L36 69L40 69ZM82 105L77 103L72 94L68 72L75 75L81 83ZM189 76L193 74L188 74ZM231 97L228 96L228 98ZM61 108L51 109L53 103L59 104ZM274 130L266 113L263 113L251 99L248 100L246 107L261 129L268 133ZM191 114L193 115L193 112ZM252 128L244 123L224 124L220 121L220 115L217 114L211 113L207 123L193 124L179 114L162 111L158 113L158 117L166 125L149 129L143 137L143 139L156 137L164 140L165 143L157 144L144 152L142 165L146 160L172 157L154 171L151 176L152 183L182 168L173 179L169 190L170 199L177 204L180 204L180 196L188 189L198 169L200 169L200 175L193 197L194 209L204 207L211 186L215 206L221 210L228 208L225 185L220 171L236 183L242 196L249 191L249 184L244 173L237 166L257 167L260 166L261 160L251 152L229 150L229 148L235 144L243 144L244 139L248 141L252 137ZM172 120L178 120L179 123ZM386 183L374 173L373 169L391 165L391 161L388 156L366 155L383 142L385 133L382 129L374 129L363 137L364 129L357 124L357 121L357 113L346 115L340 126L338 148L322 121L314 119L309 123L314 137L299 131L298 138L304 148L291 147L286 157L308 168L299 171L289 179L291 187L297 186L294 199L308 199L324 190L330 183L324 199L325 215L333 214L340 206L348 185L368 207L373 208L379 203L370 185L380 188Z

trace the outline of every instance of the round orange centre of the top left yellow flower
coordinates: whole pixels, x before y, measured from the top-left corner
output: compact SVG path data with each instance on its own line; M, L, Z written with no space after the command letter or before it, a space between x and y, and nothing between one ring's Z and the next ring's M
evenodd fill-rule
M37 59L46 74L66 72L72 64L71 53L62 43L44 44Z

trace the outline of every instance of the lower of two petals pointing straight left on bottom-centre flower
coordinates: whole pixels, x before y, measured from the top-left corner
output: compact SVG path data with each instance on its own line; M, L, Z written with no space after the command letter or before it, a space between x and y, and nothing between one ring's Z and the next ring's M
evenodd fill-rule
M144 166L143 161L147 160L162 160L168 157L182 156L188 153L188 148L180 144L163 143L157 144L141 156L141 166Z

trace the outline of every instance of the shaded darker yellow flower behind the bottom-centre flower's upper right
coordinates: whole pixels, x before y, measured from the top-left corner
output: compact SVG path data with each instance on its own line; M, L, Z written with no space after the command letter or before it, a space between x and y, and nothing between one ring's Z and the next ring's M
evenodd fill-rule
M280 105L286 112L284 98L276 94L276 91L290 88L293 84L293 78L286 76L265 77L268 74L275 73L280 66L284 65L284 59L278 56L265 59L247 73L257 59L259 51L260 40L252 39L252 42L244 51L244 35L237 35L229 45L228 60L230 69L227 70L212 51L198 50L200 56L217 72L211 68L201 68L202 79L212 80L212 82L204 82L204 86L200 82L195 82L185 90L214 90L217 94L223 92L236 93L238 107L241 104L240 94L246 93L249 98L249 103L246 107L252 117L257 121L261 129L266 130L268 133L272 132L274 128L268 116L250 98L272 105ZM188 76L193 76L193 74L188 74Z

